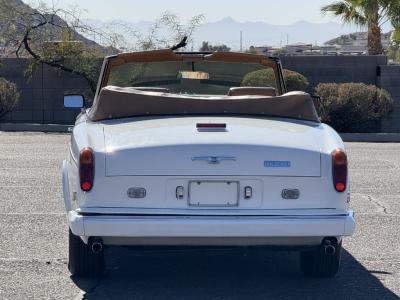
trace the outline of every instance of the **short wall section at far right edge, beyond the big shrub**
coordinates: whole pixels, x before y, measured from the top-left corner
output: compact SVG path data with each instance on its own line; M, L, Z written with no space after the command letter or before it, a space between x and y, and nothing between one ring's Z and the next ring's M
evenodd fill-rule
M394 110L391 116L382 120L382 132L400 132L400 65L381 66L379 86L393 97Z

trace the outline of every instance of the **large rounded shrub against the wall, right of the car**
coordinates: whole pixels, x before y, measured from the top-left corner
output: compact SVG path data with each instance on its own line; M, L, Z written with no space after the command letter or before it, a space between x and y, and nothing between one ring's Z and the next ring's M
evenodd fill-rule
M322 121L339 132L377 131L380 119L393 109L390 94L374 85L321 83L315 92L321 97Z

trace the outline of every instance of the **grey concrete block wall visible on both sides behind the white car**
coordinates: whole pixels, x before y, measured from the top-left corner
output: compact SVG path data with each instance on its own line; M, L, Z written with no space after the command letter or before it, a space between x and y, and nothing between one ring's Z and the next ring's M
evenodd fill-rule
M391 118L382 121L382 131L400 132L400 66L388 66L385 56L286 56L286 69L304 74L310 81L308 92L313 94L320 82L364 82L387 89L395 99ZM73 124L79 110L63 108L65 93L84 93L86 81L79 76L40 66L30 80L24 77L28 61L4 59L0 76L17 83L21 99L6 122Z

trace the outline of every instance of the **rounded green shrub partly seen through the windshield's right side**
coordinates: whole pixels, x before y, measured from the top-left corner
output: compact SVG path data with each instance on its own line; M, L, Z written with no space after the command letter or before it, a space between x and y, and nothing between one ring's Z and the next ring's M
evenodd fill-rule
M305 91L309 84L306 77L291 70L283 70L283 77L289 92ZM276 88L274 71L272 69L264 69L250 72L243 78L242 86L271 86Z

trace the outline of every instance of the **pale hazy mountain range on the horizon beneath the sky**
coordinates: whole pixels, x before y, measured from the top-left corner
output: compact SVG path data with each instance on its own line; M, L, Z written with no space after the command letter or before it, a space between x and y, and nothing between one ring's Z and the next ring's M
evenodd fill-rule
M89 20L98 27L108 26L112 23L122 23L124 26L145 33L152 26L152 22L142 21L131 23L126 21L101 22ZM271 25L265 22L239 22L231 17L226 17L216 22L203 24L194 35L194 48L197 50L202 41L210 44L226 44L233 50L240 48L240 32L243 36L243 47L250 46L284 46L289 42L304 42L322 45L327 40L339 35L357 31L353 26L343 26L335 22L310 23L296 22L290 25Z

